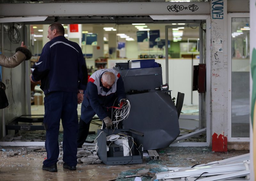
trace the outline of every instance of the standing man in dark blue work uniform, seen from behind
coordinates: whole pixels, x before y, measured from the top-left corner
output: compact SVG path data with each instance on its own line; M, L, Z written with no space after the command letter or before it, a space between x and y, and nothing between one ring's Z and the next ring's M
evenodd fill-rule
M43 170L57 171L59 157L60 119L63 126L63 168L76 170L78 129L77 103L83 101L87 84L87 69L81 47L64 37L60 23L49 26L49 42L43 47L40 59L30 76L32 82L41 81L44 91L44 127L47 159Z

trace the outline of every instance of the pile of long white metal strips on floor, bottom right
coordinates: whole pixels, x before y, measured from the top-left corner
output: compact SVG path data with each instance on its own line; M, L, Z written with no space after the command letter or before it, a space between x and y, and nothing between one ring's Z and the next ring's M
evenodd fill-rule
M215 181L236 177L249 179L250 155L244 154L220 161L186 168L168 168L170 171L156 173L155 179L175 179L175 181Z

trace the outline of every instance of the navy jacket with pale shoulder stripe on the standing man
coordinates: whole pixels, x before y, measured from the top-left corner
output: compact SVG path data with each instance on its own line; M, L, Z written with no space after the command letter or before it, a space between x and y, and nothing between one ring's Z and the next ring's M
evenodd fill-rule
M87 84L87 68L81 47L64 36L47 42L33 66L32 80L41 80L44 94L52 91L77 92Z

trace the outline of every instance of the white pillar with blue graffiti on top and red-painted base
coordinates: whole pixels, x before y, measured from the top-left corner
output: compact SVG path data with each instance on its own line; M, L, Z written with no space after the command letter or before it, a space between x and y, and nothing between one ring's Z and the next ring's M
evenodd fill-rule
M211 40L212 150L227 152L227 0L211 1Z

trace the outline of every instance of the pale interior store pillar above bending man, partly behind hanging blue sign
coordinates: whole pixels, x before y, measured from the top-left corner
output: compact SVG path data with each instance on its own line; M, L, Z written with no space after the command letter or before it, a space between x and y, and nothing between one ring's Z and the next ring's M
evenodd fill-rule
M104 30L103 26L94 26L93 33L97 34L97 46L93 46L92 57L94 59L104 56Z

